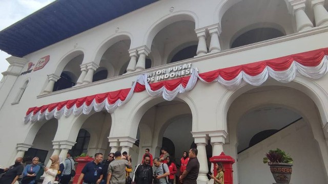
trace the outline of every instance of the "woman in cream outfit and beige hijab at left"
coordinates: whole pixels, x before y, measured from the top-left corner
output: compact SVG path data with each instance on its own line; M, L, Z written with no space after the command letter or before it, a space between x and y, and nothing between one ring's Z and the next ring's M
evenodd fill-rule
M58 155L52 155L50 157L51 165L49 168L45 167L45 178L42 182L42 184L53 184L55 181L55 177L57 175L57 172L59 170L59 156Z

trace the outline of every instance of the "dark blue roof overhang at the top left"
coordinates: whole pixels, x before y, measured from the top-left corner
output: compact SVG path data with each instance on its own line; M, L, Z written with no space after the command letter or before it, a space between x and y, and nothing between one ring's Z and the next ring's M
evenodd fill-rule
M57 0L0 32L0 50L23 57L159 0Z

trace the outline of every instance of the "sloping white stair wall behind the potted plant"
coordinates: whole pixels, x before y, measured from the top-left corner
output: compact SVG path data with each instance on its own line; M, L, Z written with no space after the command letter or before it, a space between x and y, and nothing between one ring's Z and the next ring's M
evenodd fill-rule
M304 120L239 153L239 183L275 182L268 164L263 164L262 158L270 149L276 148L288 152L294 159L291 183L326 183L318 144Z

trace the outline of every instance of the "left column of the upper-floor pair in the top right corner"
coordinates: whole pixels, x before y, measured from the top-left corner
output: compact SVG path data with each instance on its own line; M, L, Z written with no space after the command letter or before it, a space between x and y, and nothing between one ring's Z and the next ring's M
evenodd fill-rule
M292 0L289 6L290 12L296 19L296 31L306 31L313 28L312 21L305 13L305 0Z

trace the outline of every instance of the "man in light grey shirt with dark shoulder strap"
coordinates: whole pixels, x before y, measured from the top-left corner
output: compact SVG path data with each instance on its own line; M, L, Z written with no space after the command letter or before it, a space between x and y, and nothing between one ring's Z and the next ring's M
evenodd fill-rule
M155 173L154 173L154 183L167 184L168 176L170 175L170 170L167 164L161 163L159 158L154 158Z

